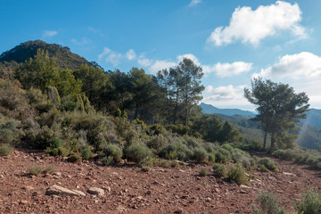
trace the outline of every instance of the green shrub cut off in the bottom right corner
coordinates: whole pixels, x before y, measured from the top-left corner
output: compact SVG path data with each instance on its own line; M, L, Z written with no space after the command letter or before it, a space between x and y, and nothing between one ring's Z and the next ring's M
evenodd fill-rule
M299 213L321 213L321 193L309 189L303 194L300 203L296 204L296 210Z

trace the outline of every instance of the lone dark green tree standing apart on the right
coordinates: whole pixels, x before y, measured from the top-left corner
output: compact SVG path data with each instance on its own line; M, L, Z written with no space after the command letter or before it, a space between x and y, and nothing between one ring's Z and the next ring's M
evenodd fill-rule
M295 131L299 119L306 118L305 111L309 109L309 98L305 93L295 94L289 85L277 84L271 80L263 81L254 78L251 90L244 89L246 99L257 105L259 114L254 120L264 132L263 148L266 148L268 134L271 137L271 149L292 148L294 136L289 131Z

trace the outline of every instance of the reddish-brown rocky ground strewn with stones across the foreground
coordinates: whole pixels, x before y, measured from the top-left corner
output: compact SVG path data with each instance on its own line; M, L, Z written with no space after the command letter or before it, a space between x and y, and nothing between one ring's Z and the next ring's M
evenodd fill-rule
M35 165L53 166L55 173L30 176L27 171ZM203 167L209 175L199 177ZM309 186L321 188L319 172L290 161L279 161L277 173L251 171L250 187L226 183L210 169L195 165L144 172L130 164L103 167L15 151L0 157L0 213L252 213L251 204L262 191L275 193L292 210ZM48 192L53 185L79 195Z

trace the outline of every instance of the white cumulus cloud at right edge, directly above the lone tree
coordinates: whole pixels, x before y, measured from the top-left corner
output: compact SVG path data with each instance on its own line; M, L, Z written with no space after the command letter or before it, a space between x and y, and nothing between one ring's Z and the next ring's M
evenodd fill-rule
M321 78L321 57L309 52L286 54L274 65L253 74L253 78Z

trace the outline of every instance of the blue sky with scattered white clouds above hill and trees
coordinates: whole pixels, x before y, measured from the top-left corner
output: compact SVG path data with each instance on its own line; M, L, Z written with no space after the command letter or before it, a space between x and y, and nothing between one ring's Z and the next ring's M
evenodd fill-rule
M0 0L0 52L28 40L69 46L105 70L202 66L203 102L254 110L251 78L306 92L321 109L321 1Z

